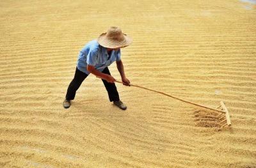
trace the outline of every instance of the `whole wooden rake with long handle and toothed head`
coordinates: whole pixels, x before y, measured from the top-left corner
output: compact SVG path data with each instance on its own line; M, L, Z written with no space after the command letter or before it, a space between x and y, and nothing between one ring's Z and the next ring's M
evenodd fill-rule
M100 78L100 77L97 76L97 78ZM116 80L115 82L124 84L122 81L117 81L117 80ZM163 94L163 95L166 95L166 96L168 96L168 97L172 97L173 99L177 99L177 100L182 101L182 102L187 102L187 103L189 103L189 104L193 104L193 105L199 106L199 107L201 107L201 108L211 109L211 110L213 110L213 111L217 111L217 112L220 113L220 115L218 115L217 118L218 118L219 120L221 120L221 122L219 123L220 125L222 124L222 125L221 125L221 128L222 128L222 127L225 127L225 126L228 126L228 127L231 126L230 115L229 115L228 109L227 109L227 107L225 106L225 104L224 104L223 101L220 101L220 106L218 106L218 108L210 108L210 107L204 106L204 105L202 105L202 104L197 104L197 103L195 103L195 102L186 101L186 100L184 100L184 99L180 99L180 98L175 97L175 96L173 96L173 95L169 95L169 94L166 94L166 93L164 93L164 92L159 92L159 91L157 91L157 90L153 90L153 89L151 89L151 88L145 88L145 87L141 87L141 86L139 86L139 85L133 85L133 84L130 84L130 86L132 86L132 87L138 87L138 88L143 88L143 89L145 89L145 90L150 90L150 91L152 91L152 92L157 92L157 93L159 93L159 94ZM225 122L226 122L226 123L225 123Z

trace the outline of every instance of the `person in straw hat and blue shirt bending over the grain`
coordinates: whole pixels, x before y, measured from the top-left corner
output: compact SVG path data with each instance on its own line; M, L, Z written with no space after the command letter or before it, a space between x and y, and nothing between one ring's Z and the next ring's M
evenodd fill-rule
M130 81L125 77L124 66L120 58L120 48L131 45L132 39L122 33L118 27L110 27L108 32L100 34L97 40L87 43L81 50L77 60L74 79L68 86L64 108L69 108L71 100L74 100L76 91L83 80L90 74L102 78L104 86L108 91L109 101L118 108L125 110L127 107L120 101L115 86L115 78L109 73L108 66L116 61L116 67L121 75L124 85L129 86Z

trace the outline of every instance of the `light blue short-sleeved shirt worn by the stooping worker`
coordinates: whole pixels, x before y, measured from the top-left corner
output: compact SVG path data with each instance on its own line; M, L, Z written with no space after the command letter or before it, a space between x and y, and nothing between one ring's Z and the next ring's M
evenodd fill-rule
M105 67L110 66L113 62L121 60L120 48L112 50L109 55L107 48L100 46L96 39L89 41L79 52L77 59L77 69L83 73L90 74L87 71L87 65L94 66L95 69L102 72Z

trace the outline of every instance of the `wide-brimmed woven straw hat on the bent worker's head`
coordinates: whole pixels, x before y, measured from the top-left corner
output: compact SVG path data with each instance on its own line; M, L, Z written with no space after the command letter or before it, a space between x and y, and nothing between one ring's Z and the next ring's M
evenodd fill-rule
M108 32L100 34L97 41L101 46L106 48L121 48L129 46L132 43L132 39L122 33L118 27L110 27Z

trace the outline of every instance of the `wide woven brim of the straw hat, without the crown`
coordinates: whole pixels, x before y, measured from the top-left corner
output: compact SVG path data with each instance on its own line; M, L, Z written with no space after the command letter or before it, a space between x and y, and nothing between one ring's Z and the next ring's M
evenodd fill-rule
M97 42L106 48L123 48L125 46L129 46L132 43L132 39L127 36L126 34L122 33L124 36L124 40L122 41L116 41L113 39L109 39L106 36L106 32L100 34L99 38L97 39Z

